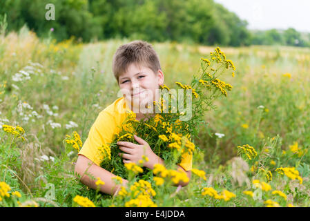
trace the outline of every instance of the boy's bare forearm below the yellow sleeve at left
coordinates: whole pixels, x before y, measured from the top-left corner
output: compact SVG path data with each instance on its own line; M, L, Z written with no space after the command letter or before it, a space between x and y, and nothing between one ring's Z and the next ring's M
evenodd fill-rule
M100 166L97 166L93 161L89 160L84 155L79 155L77 158L77 162L75 164L75 173L79 174L81 177L81 182L86 186L89 186L91 189L97 189L95 182L97 181L97 177L99 177L100 180L104 181L105 183L104 185L100 185L99 191L102 193L115 195L115 193L121 187L121 185L115 184L114 180L112 180L112 177L115 177L113 173L106 171ZM88 174L95 177L95 180L93 180ZM125 186L128 181L124 179L122 180L122 185Z

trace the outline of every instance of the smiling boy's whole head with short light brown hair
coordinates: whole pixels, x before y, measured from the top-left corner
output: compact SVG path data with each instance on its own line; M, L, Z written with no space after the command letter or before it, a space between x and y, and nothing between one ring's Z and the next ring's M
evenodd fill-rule
M151 44L131 41L120 46L113 56L113 73L126 98L133 104L150 104L156 89L164 84L159 58ZM143 106L143 105L142 105Z

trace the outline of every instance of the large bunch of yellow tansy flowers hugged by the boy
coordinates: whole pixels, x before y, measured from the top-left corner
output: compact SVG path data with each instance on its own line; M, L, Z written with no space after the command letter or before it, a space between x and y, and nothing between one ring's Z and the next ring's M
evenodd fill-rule
M180 163L184 153L192 155L195 151L194 143L198 136L198 128L200 125L206 126L204 122L206 111L214 108L213 102L217 97L226 97L227 90L233 88L230 84L218 79L222 73L229 70L232 70L230 73L234 77L233 61L227 60L224 52L218 47L210 53L210 59L202 58L201 67L198 70L199 78L194 76L189 85L175 82L177 87L182 89L178 90L178 93L180 91L182 93L182 102L186 107L182 110L176 110L175 106L171 105L175 96L180 95L172 93L173 89L166 85L161 86L163 92L169 96L163 95L160 102L154 102L153 108L157 108L159 113L156 112L155 116L139 121L135 119L135 113L129 113L122 125L122 131L115 135L110 148L102 148L102 154L108 157L103 157L101 167L115 175L128 178L128 168L119 156L121 151L117 142L126 141L137 144L133 137L134 134L148 142L153 152L162 157L167 167ZM185 115L184 110L191 112L191 117L187 120L182 120ZM153 171L137 170L136 175L138 179L149 180L153 177Z

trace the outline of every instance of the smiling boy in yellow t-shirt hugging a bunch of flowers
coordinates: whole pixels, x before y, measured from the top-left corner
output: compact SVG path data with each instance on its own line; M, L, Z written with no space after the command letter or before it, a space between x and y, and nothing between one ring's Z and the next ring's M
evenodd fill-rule
M97 189L95 184L97 179L93 180L87 174L91 174L95 178L99 177L105 183L100 186L99 191L110 195L116 195L121 186L115 184L112 179L115 177L113 173L99 166L100 159L97 148L112 142L113 135L119 133L122 122L126 119L126 110L131 110L133 106L145 107L150 103L153 104L159 85L164 84L164 74L159 64L158 55L151 44L145 41L132 41L117 49L113 56L113 74L122 94L124 92L125 94L99 113L90 128L86 142L79 151L75 165L75 173L81 175L82 183L92 189ZM137 120L145 117L142 111L137 111L135 114ZM146 141L137 136L135 136L135 140L139 144L117 142L119 149L124 152L121 155L124 164L129 162L137 164L139 160L142 160L142 155L146 155L149 160L143 166L153 169L154 164L164 165L164 160L152 151ZM191 155L186 155L182 158L180 165L177 165L178 168L186 172L189 179L191 178L191 160ZM122 179L122 185L125 186L127 182ZM187 184L180 182L177 185L186 186Z

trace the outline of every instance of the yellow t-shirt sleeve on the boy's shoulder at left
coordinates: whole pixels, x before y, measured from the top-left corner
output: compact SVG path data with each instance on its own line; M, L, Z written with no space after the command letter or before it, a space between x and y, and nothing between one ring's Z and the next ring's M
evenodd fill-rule
M88 137L79 151L79 155L84 155L99 166L101 157L98 148L112 142L116 130L117 125L114 117L105 111L101 111L93 126L91 126Z

